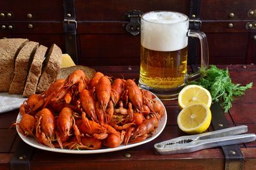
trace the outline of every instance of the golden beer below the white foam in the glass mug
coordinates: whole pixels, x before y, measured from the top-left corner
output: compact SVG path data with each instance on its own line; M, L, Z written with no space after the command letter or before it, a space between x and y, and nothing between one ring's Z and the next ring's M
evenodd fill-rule
M187 58L187 46L173 52L160 52L148 50L141 45L140 84L159 89L183 85Z

